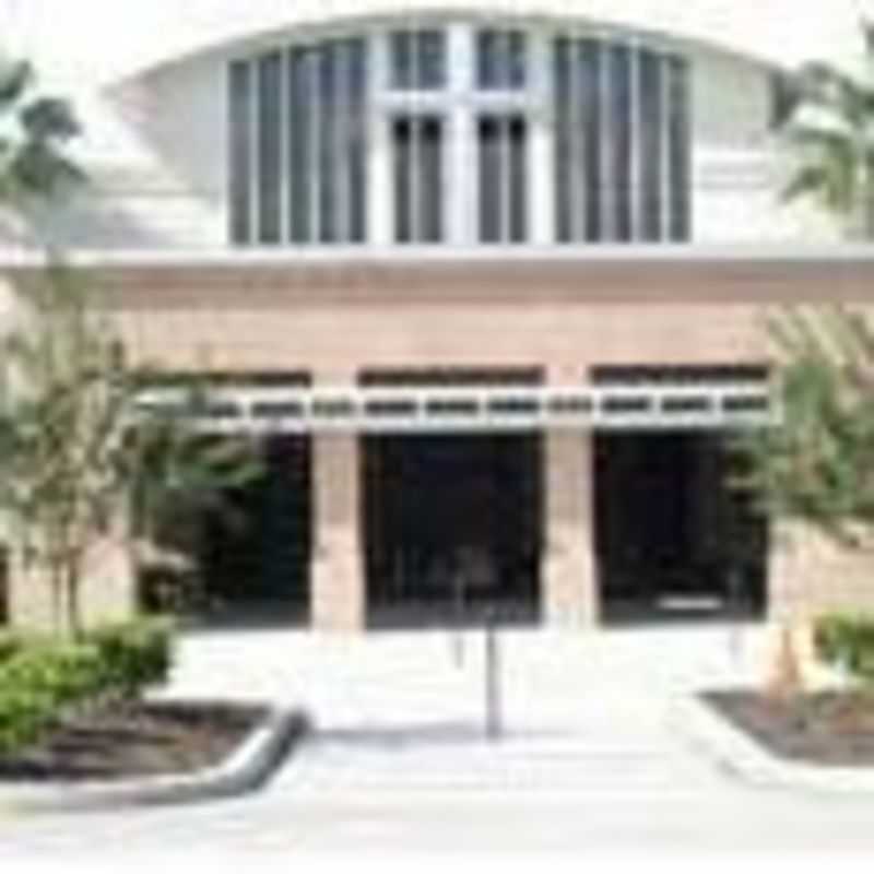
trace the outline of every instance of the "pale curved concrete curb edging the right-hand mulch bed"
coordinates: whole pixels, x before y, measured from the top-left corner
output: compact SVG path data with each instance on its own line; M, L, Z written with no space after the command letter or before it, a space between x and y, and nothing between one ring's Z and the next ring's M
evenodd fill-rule
M744 782L770 789L874 793L874 768L805 765L775 756L697 697L675 705L672 716L696 751Z

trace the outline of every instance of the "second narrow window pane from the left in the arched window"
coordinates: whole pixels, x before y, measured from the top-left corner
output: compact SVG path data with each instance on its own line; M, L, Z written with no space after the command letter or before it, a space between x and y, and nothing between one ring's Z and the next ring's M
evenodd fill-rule
M282 236L282 55L258 61L258 226L264 244Z

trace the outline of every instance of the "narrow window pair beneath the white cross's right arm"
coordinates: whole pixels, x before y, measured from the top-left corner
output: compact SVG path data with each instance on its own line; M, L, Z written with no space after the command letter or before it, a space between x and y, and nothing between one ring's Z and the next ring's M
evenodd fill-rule
M484 116L480 152L480 240L523 243L528 237L528 127L519 116Z

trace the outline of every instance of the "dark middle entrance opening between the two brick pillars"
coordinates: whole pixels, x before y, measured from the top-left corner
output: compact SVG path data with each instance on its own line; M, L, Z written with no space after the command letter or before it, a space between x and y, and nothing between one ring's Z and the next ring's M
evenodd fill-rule
M364 439L371 626L536 622L538 435Z

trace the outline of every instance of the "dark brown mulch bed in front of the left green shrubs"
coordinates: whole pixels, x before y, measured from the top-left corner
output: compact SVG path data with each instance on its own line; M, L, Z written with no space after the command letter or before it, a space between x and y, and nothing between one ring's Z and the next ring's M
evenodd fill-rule
M130 702L62 720L42 743L0 756L0 784L182 773L221 764L264 716L226 704Z

